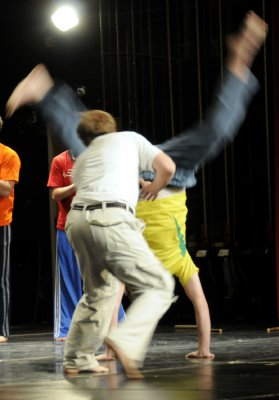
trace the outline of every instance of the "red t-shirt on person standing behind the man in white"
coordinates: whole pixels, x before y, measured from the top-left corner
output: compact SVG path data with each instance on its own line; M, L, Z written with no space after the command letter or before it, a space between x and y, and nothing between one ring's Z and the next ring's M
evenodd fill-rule
M72 184L71 178L67 176L69 169L72 169L74 160L71 158L69 150L58 154L53 158L47 186L49 188L60 188ZM63 200L58 201L58 218L56 228L60 230L65 229L67 214L70 210L71 202L75 193Z

